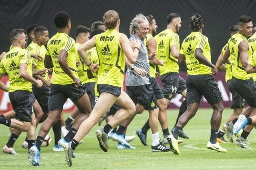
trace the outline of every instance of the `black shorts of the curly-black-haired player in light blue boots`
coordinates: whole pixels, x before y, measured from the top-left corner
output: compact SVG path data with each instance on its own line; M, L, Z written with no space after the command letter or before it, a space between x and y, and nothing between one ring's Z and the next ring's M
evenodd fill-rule
M69 98L72 102L75 102L81 98L82 95L86 93L85 87L80 85L75 87L74 83L72 84L50 84L50 94L48 99L48 108L51 110L61 110L63 105Z

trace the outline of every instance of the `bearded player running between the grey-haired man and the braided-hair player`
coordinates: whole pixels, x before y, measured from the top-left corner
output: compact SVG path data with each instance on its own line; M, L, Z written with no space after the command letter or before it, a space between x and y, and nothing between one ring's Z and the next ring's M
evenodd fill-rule
M186 98L185 80L178 76L179 66L177 64L179 54L178 31L181 27L181 18L177 13L170 13L167 16L167 27L155 36L157 42L157 57L164 61L163 66L158 66L160 79L162 82L162 93L167 102L170 103L172 97L177 93ZM167 108L166 108L167 109ZM186 110L186 100L179 108L177 120ZM176 120L176 123L177 123ZM174 127L176 126L176 123ZM174 128L172 129L173 132ZM179 137L188 139L189 137L182 130Z

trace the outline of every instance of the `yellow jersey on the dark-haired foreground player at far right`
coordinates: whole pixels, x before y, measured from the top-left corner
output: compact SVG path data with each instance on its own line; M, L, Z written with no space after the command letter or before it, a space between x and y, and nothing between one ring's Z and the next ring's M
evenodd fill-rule
M231 60L231 68L232 68L232 76L241 79L241 80L248 80L251 77L251 74L247 74L245 72L245 68L242 67L239 50L238 50L238 44L241 41L246 41L247 39L245 36L243 36L240 33L234 34L231 38L228 40L228 47L230 51L230 57ZM248 49L248 56L251 55L251 49Z

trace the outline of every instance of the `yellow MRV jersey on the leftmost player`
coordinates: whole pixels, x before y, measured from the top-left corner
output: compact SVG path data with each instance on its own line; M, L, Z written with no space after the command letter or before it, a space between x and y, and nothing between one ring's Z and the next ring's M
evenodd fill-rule
M9 76L9 92L14 92L17 90L32 91L32 84L18 74L19 64L27 64L27 72L32 76L32 64L30 61L29 51L22 49L20 47L12 47L9 52L7 52L2 60L0 61L0 73L4 74L7 72Z

